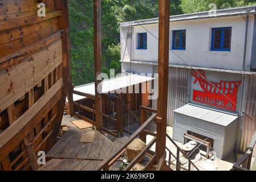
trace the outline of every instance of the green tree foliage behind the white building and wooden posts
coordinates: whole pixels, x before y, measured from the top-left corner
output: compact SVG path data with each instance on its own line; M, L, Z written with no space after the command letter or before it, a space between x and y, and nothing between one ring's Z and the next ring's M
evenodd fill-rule
M170 0L170 14L209 10L210 3L218 9L252 5L256 0ZM120 72L119 23L155 18L159 0L102 0L102 70ZM94 81L94 0L69 0L72 81L75 85Z

